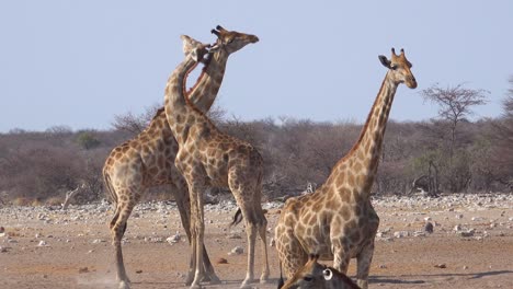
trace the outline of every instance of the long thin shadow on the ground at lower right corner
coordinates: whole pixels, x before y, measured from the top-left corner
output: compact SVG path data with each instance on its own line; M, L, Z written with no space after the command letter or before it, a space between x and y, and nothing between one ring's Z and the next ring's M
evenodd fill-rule
M483 273L447 273L447 274L429 274L429 275L399 275L399 276L372 276L369 277L369 282L372 284L424 284L424 280L414 280L414 279L424 279L429 277L467 277L468 279L479 279L487 276L497 276L503 274L513 274L512 270L494 270L494 271L483 271ZM409 279L402 279L409 278ZM412 279L410 279L412 278Z

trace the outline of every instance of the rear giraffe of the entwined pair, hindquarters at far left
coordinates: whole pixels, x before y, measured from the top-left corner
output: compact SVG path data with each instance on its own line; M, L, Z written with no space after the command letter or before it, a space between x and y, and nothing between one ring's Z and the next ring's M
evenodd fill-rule
M228 56L252 42L252 36L244 33L233 34L233 37L237 38L237 44L227 44L230 47L228 53L219 51L208 55L198 81L187 93L191 102L202 112L207 112L216 99L225 74ZM198 45L198 42L189 36L184 35L183 39L185 54ZM116 252L117 279L122 288L129 287L129 279L123 262L121 240L132 210L149 187L170 185L173 188L182 226L191 240L189 190L185 180L174 166L176 152L178 143L169 128L162 107L142 132L114 148L105 160L103 166L105 187L116 203L110 228ZM206 251L204 252L206 277L213 284L218 282L219 278L214 271ZM185 282L191 284L193 277L191 262Z

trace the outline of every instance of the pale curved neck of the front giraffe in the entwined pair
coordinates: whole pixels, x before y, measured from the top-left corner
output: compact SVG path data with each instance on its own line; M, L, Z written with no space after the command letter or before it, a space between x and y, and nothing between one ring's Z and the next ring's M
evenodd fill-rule
M169 127L174 138L180 143L184 142L187 135L186 124L194 114L194 108L187 105L185 97L185 80L187 74L196 67L197 62L191 56L186 56L169 77L166 86L164 109Z

